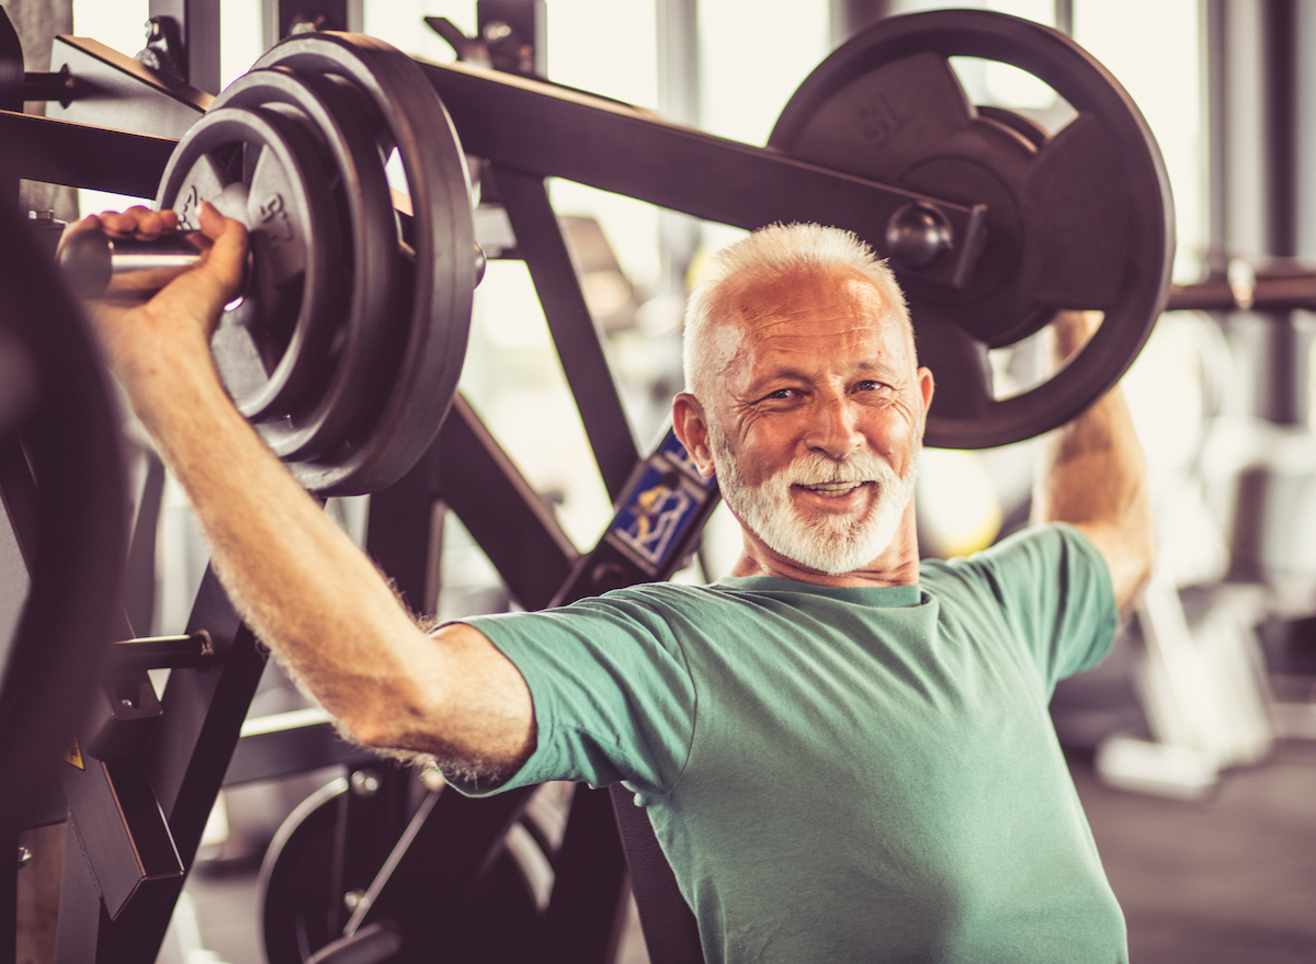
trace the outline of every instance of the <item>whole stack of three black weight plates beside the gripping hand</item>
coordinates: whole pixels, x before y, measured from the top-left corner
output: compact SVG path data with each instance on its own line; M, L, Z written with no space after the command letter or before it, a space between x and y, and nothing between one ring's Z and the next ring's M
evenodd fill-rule
M433 87L374 38L283 41L179 142L157 205L195 228L203 200L250 236L212 340L238 410L313 493L396 482L451 403L478 279L466 158Z

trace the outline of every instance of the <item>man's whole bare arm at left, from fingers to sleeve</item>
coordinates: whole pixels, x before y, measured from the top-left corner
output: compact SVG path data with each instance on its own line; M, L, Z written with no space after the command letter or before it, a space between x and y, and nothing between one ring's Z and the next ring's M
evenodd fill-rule
M134 211L107 227L168 229ZM170 216L171 217L171 216ZM212 564L257 636L368 745L508 774L534 745L525 681L486 636L426 636L225 392L209 338L233 296L245 232L213 208L205 259L145 303L91 306L93 327L161 457L191 498Z

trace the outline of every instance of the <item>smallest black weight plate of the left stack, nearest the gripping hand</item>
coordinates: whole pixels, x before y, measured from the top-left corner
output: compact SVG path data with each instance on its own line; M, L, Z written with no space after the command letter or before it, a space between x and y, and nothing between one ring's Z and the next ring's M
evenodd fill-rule
M208 112L179 141L157 204L195 228L203 200L246 224L251 278L212 346L238 410L282 457L328 448L313 396L343 313L341 228L315 138L272 111Z

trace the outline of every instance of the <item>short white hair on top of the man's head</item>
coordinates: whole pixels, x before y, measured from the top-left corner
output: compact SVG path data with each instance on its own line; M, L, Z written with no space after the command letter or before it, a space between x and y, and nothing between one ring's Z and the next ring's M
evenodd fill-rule
M734 241L708 258L686 304L686 388L704 398L713 377L717 352L712 344L716 325L726 312L725 299L733 282L742 278L772 281L812 271L854 270L873 282L882 296L909 325L904 292L887 262L854 232L821 224L771 224ZM911 329L911 344L912 344Z

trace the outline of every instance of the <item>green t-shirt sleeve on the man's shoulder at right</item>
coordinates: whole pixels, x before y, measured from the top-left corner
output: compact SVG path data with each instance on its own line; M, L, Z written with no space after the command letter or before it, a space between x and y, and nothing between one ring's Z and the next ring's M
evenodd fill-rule
M1029 527L953 565L982 578L1048 693L1109 652L1119 628L1111 572L1075 527Z

